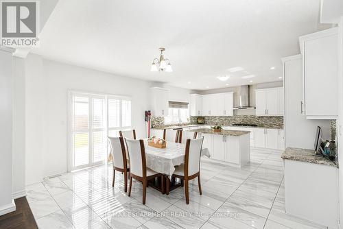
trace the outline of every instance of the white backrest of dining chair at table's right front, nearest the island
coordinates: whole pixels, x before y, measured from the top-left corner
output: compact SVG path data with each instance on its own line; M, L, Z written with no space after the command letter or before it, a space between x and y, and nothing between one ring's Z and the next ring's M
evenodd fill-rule
M200 156L204 137L187 139L185 152L185 176L192 176L200 171Z

